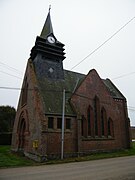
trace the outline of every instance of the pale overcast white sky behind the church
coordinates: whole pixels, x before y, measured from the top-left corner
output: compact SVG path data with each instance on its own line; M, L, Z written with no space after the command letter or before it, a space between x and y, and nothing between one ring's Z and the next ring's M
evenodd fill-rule
M54 35L65 44L64 69L96 69L111 79L126 97L135 126L134 0L0 0L0 105L17 108L20 90L2 87L21 88L49 5Z

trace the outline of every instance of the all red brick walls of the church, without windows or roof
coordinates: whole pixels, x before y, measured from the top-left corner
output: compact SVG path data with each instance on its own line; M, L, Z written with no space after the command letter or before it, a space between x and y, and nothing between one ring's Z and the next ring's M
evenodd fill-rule
M54 116L54 129L48 129L48 116L45 116L44 105L40 90L38 89L36 75L32 63L29 61L25 77L28 82L27 103L22 106L20 94L18 110L14 123L12 136L12 150L18 151L20 142L19 123L24 119L25 139L23 150L25 155L35 160L41 161L48 157L60 157L61 153L61 129L56 127L57 116ZM25 81L25 78L24 78ZM24 88L24 84L22 88ZM82 136L82 116L87 119L88 107L94 112L94 99L98 98L98 136ZM126 104L122 100L114 100L108 89L96 73L91 71L71 98L71 103L76 111L77 117L71 118L71 129L65 129L64 154L77 154L98 150L116 150L129 147L129 122ZM101 130L101 110L105 109L106 119L112 119L113 135L108 136L107 124L104 126L105 134L102 136ZM94 112L95 113L95 112ZM93 119L95 115L93 114ZM88 125L88 124L87 124ZM93 123L94 128L94 123ZM84 126L87 131L87 126ZM93 129L93 134L95 133Z

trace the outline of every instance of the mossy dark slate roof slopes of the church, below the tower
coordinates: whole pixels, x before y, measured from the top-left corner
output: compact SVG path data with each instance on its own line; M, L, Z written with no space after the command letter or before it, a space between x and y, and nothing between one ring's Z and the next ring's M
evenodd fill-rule
M76 116L71 104L70 98L74 90L86 77L84 74L64 70L65 80L53 80L45 77L38 78L39 89L44 102L45 114L61 115L63 90L66 90L66 116ZM109 80L103 79L103 83L109 90L111 96L117 99L124 99L124 96L116 88L116 86Z

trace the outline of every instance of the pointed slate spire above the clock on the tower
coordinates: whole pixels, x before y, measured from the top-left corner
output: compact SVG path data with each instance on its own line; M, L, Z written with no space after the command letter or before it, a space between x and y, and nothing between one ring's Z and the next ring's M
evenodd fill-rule
M49 6L49 12L48 12L44 27L43 27L41 35L40 35L40 37L45 38L45 39L47 38L47 36L49 34L53 34L53 27L52 27L51 16L50 16L50 9L51 9L51 6Z

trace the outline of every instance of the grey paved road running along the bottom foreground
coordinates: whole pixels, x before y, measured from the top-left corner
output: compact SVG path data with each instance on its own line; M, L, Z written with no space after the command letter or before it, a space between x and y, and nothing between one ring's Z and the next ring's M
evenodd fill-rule
M135 180L135 156L0 169L0 180Z

